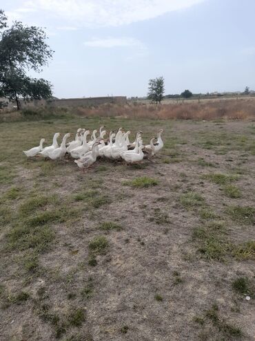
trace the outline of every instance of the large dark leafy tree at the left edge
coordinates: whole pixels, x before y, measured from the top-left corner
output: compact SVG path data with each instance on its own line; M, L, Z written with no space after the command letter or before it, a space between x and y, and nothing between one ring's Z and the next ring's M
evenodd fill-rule
M42 71L53 51L45 43L45 33L36 26L23 26L14 21L8 28L6 16L0 10L0 97L15 100L20 109L23 100L52 97L52 85L42 78L37 80L26 75L26 71Z

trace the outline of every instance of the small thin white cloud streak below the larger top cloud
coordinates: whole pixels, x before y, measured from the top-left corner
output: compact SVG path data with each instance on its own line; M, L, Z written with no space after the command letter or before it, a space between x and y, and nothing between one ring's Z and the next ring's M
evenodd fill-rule
M114 38L108 37L105 39L92 39L84 42L83 45L95 48L114 48L114 47L132 47L136 46L137 48L145 48L142 42L138 39L134 39L132 37L121 37Z

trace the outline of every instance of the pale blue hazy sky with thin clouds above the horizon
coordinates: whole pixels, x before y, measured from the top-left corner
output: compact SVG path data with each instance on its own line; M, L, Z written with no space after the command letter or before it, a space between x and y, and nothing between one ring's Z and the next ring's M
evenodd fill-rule
M57 98L255 90L254 0L0 0L9 23L41 26Z

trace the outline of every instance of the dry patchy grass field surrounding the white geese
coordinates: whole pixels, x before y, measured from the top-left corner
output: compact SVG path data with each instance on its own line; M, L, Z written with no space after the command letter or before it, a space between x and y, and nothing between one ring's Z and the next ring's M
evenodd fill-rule
M22 153L102 124L165 147L85 174ZM2 122L0 143L1 341L255 339L255 122Z

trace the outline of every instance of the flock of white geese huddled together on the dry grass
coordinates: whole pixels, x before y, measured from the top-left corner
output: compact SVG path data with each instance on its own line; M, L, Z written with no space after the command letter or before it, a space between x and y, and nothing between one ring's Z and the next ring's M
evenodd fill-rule
M79 128L76 132L75 139L72 142L66 142L70 138L70 133L63 136L63 140L59 147L57 138L60 133L55 133L53 136L52 145L43 148L42 138L38 147L33 147L27 151L23 151L29 158L34 156L43 156L52 160L61 160L65 158L65 154L74 159L74 162L81 169L86 169L93 165L96 158L107 158L109 160L125 160L126 163L139 163L143 158L150 158L154 156L159 150L163 148L163 140L160 129L157 137L150 139L150 145L143 145L142 131L137 131L134 142L130 143L130 131L123 131L120 127L115 134L110 131L108 138L105 138L106 131L104 126L99 129L99 136L97 130L93 130L90 138L90 130Z

